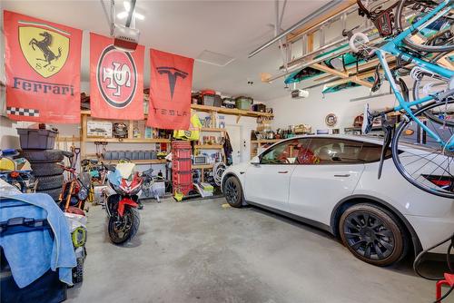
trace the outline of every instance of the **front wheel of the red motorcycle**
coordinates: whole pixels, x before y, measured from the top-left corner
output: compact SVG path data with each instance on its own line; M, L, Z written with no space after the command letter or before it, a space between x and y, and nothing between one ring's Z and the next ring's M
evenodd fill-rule
M137 209L125 207L123 217L117 214L109 218L109 238L117 245L133 239L139 230L140 221Z

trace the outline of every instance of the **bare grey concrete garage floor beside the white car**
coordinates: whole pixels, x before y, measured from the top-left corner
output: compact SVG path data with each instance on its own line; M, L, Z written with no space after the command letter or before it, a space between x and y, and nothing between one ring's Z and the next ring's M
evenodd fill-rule
M431 302L409 262L378 268L330 234L224 199L144 202L139 233L117 247L93 207L84 283L68 302ZM453 302L453 301L450 301Z

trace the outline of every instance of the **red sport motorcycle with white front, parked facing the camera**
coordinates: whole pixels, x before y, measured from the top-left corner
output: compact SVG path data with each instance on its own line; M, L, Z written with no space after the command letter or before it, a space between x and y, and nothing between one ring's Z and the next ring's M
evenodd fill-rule
M115 191L105 200L105 210L109 216L109 238L114 244L123 244L133 239L139 230L140 216L138 193L142 189L143 178L134 172L135 164L118 163L116 167L104 164L110 171L107 175L109 187Z

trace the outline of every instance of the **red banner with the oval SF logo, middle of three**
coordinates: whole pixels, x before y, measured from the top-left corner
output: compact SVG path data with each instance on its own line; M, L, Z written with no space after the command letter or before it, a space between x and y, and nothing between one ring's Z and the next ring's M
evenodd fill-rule
M103 119L143 120L143 55L114 47L114 39L90 33L90 106Z

